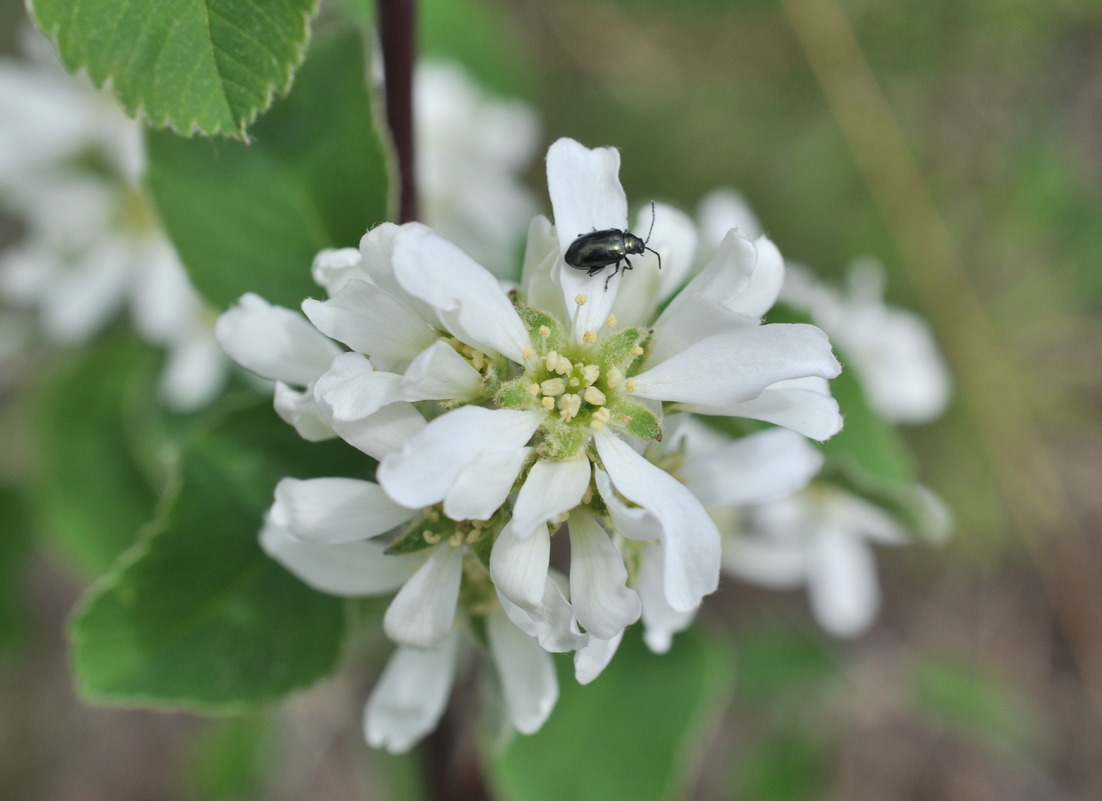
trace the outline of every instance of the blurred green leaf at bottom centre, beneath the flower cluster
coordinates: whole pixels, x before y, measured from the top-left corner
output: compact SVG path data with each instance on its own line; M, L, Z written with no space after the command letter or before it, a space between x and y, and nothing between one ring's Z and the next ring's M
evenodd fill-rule
M518 736L490 765L501 798L523 801L661 801L684 798L702 739L728 697L724 642L700 631L656 656L636 634L612 664L580 686L559 661L561 695L537 734Z

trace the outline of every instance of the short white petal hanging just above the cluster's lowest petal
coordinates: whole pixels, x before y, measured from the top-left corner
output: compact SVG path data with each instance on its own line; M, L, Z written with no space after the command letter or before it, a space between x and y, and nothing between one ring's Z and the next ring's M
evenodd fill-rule
M432 648L455 624L465 548L437 546L387 607L382 627L403 646Z

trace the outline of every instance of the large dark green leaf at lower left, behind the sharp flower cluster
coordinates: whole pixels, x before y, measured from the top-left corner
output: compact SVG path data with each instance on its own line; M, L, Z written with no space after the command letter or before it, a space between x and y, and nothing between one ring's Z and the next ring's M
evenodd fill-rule
M368 464L339 441L302 441L267 402L195 436L155 527L75 617L84 695L236 711L327 674L341 651L342 602L269 559L258 532L281 477Z

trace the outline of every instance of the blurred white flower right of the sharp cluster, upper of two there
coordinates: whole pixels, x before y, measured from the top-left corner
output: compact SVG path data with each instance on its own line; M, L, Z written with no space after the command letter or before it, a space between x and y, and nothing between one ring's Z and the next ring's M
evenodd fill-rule
M884 302L884 269L865 259L850 268L845 293L790 267L782 299L810 313L845 354L869 404L894 423L926 423L949 403L949 369L933 334L914 312Z

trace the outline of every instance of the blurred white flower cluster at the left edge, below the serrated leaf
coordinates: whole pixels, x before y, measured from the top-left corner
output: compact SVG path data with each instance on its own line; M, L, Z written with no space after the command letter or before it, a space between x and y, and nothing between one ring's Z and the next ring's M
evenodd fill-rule
M0 62L0 206L26 228L0 255L0 294L36 310L45 336L64 345L87 342L129 305L139 335L168 351L163 402L198 409L228 365L140 187L141 127L67 75L43 37L25 45L31 59Z

